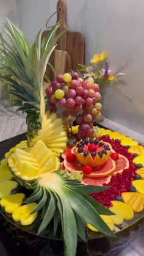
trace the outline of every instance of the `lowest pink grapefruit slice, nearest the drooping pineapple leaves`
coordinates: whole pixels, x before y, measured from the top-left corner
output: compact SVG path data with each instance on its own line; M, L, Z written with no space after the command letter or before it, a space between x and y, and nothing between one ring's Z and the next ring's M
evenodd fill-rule
M97 178L90 178L83 176L82 178L82 183L85 185L96 185L96 186L103 186L104 183L109 183L110 178L112 176L105 176L105 177L97 177Z

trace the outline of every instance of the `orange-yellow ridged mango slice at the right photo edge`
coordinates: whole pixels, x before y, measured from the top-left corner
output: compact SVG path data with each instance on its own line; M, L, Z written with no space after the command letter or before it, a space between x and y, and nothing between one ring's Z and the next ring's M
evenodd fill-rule
M123 192L121 197L124 203L127 203L135 213L143 210L144 196L137 192Z

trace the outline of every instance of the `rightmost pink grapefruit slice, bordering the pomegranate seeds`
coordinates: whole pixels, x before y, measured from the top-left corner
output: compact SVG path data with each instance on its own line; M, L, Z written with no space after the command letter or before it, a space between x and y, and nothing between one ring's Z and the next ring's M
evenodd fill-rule
M129 160L123 156L118 154L119 159L117 161L115 161L116 163L116 168L115 168L115 172L113 172L113 176L115 176L116 174L122 174L124 169L129 169Z

